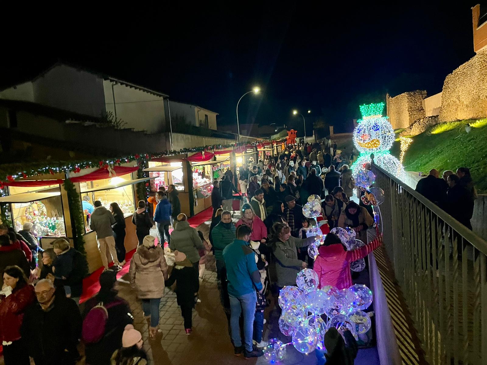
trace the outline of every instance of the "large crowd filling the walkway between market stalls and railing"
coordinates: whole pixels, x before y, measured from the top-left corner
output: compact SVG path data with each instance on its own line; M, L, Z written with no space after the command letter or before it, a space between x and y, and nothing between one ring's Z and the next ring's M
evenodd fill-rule
M348 287L350 262L377 245L346 252L339 238L329 234L313 262L307 257L307 247L314 237L307 237L307 232L317 223L303 216L302 205L310 195L320 196L323 219L331 228L350 227L366 241L366 230L374 220L365 208L349 201L355 188L348 167L351 159L353 153L337 152L336 146L306 144L289 146L280 156L266 156L256 164L244 164L237 184L233 174L225 172L223 181L214 182L211 195L214 211L209 242L181 213L173 185L167 191L161 188L147 202L138 201L132 222L139 245L131 257L128 277L141 302L149 337L157 338L162 332L160 302L165 287L174 284L185 332L191 334L192 310L200 301L198 291L210 251L215 256L221 303L237 356L262 355L267 345L262 332L268 296L295 285L296 274L303 268L314 264L320 283ZM235 219L234 193L248 199ZM153 204L152 209L148 203ZM150 236L153 222L157 243ZM116 203L108 210L95 201L90 227L96 233L104 270L100 291L85 303L82 313L77 304L86 274L85 256L65 237L56 239L52 248L40 249L31 232L32 223L19 232L0 227L0 339L6 365L29 364L29 357L36 365L75 364L80 359L80 341L88 365L148 363L143 336L132 325L133 308L114 289L116 273L126 264L123 213ZM166 262L165 245L166 252L174 253L172 270ZM329 265L332 257L333 265ZM339 363L345 357L353 361L356 356L353 336L329 330L325 342L333 350L322 354L318 363L326 359Z

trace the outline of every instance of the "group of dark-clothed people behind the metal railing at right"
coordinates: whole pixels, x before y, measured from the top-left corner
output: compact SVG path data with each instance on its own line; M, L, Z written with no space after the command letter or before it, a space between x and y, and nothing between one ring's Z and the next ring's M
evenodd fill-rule
M468 167L459 167L440 173L431 169L428 176L418 181L416 191L442 208L451 217L472 230L470 219L477 199L477 191Z

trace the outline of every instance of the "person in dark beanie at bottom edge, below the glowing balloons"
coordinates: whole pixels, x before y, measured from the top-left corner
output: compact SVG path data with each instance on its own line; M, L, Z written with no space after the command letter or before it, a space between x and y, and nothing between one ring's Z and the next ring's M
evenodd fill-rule
M317 365L354 365L358 347L354 335L348 329L337 330L335 327L328 329L325 333L324 345L326 351L315 350Z

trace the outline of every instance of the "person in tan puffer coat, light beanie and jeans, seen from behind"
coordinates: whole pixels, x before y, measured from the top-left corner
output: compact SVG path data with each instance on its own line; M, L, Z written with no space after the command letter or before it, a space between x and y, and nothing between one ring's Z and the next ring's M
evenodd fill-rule
M144 237L130 261L129 277L137 296L142 299L144 317L150 325L150 338L162 332L159 327L159 303L164 296L164 280L168 278L168 264L161 245L154 246L155 238ZM198 279L198 275L195 275Z

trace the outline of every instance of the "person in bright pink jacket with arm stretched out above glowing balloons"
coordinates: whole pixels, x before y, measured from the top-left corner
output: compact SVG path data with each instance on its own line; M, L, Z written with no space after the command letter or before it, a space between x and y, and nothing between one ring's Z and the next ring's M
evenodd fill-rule
M326 285L333 285L337 289L350 288L353 285L350 264L369 255L381 243L382 237L378 237L359 249L345 251L340 238L333 233L326 235L323 245L318 248L318 256L313 266L319 276L318 288Z

